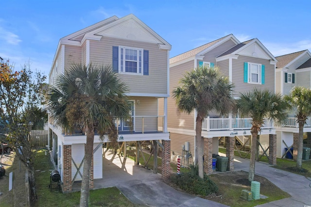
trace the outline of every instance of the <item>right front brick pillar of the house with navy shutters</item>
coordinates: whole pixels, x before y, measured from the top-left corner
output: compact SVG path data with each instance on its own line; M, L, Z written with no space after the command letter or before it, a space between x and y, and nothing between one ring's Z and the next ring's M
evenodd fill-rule
M171 141L162 140L164 150L162 150L162 178L163 180L170 179L171 175Z

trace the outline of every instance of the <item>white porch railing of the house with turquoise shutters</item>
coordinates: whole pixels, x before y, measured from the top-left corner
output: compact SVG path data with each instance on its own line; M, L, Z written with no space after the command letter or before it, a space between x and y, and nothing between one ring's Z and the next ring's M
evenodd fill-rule
M252 127L251 118L205 118L202 123L202 130L236 130L250 129ZM271 120L264 120L262 128L272 128Z

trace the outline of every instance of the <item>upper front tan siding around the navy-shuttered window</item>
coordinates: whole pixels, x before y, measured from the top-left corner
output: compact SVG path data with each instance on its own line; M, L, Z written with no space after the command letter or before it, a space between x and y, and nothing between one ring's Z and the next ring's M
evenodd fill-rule
M112 47L126 46L149 50L149 75L120 74L129 86L130 93L167 94L168 51L156 44L104 37L100 42L90 41L90 61L112 64Z

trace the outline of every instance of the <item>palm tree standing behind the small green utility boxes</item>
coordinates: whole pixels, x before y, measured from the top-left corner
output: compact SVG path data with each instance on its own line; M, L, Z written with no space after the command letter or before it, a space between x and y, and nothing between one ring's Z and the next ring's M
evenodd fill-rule
M280 94L268 90L253 89L242 93L237 100L237 108L242 116L250 116L252 120L251 157L248 180L253 181L255 175L255 156L258 148L257 136L265 118L272 119L277 125L283 124L287 117L288 104Z

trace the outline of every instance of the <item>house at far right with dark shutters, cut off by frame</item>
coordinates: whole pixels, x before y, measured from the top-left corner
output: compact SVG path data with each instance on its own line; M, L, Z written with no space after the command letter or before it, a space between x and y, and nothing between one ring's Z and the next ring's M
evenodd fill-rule
M288 95L294 86L303 86L311 88L311 52L303 50L276 57L276 92L282 95ZM285 157L285 148L297 149L298 124L295 113L289 114L287 123L282 127L277 127L277 157ZM304 127L307 132L309 147L311 147L311 120L307 119ZM296 159L297 153L294 153Z

